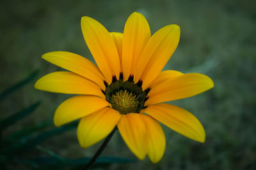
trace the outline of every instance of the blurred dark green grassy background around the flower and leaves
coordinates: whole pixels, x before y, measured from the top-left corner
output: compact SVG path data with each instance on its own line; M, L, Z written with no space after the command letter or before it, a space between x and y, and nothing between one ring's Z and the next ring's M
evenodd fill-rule
M123 32L127 17L139 11L147 18L152 33L164 25L180 25L179 46L164 69L204 73L214 81L214 89L172 102L191 111L202 122L206 141L197 143L163 125L166 152L158 164L146 158L111 164L106 169L256 169L255 6L253 0L2 2L0 92L35 69L40 73L31 83L0 101L0 118L10 117L36 101L42 102L35 113L6 128L2 138L42 122L53 125L54 110L70 96L33 88L42 75L61 70L40 57L46 52L64 50L93 61L80 28L82 16L95 18L109 31ZM77 141L76 129L72 129L45 139L40 147L76 159L91 157L100 143L84 150ZM20 160L47 155L35 149L17 154L14 151L5 160L6 169L33 168L26 162L13 162L12 155ZM102 155L136 159L118 132Z

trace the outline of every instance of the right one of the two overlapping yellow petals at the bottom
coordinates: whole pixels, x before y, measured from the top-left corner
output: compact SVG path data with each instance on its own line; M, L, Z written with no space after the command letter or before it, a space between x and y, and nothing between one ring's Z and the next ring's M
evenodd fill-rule
M152 117L143 117L148 131L148 157L153 163L159 162L164 155L165 136L161 125Z

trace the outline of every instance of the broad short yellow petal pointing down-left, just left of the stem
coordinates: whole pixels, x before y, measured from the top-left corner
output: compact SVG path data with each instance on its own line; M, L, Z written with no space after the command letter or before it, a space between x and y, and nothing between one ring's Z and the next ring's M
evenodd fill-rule
M121 115L112 108L103 108L81 118L77 127L77 138L83 148L88 148L104 139L113 131Z

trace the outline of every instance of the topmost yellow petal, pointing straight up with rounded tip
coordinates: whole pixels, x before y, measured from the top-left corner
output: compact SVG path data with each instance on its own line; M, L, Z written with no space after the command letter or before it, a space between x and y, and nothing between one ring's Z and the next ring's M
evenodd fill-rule
M124 81L134 74L138 58L150 36L150 27L146 18L141 13L132 13L124 27L122 56Z

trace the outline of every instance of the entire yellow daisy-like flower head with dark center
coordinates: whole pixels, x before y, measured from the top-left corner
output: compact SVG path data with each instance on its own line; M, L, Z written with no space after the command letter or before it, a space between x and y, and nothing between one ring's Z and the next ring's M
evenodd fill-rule
M154 163L163 157L166 146L157 121L190 139L205 141L204 127L196 117L163 103L195 96L214 86L204 74L162 71L179 43L178 25L167 25L151 36L145 17L134 12L124 34L108 32L90 17L81 18L81 29L98 67L70 52L42 56L68 71L43 76L35 88L80 94L58 106L56 126L81 118L77 138L87 148L108 136L117 125L131 152L140 160L148 155Z

